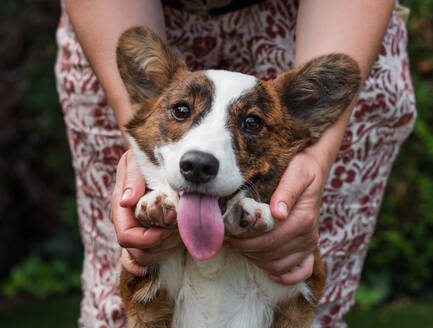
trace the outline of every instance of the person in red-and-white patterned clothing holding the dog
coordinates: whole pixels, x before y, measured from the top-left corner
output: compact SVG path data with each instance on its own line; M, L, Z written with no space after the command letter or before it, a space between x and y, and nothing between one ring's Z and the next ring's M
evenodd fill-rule
M85 246L80 326L125 326L119 258L140 275L181 247L176 232L146 229L133 214L145 181L123 138L132 111L115 48L120 34L137 25L156 32L192 70L272 79L327 53L358 62L359 97L291 161L272 197L272 214L282 224L229 241L281 284L311 275L319 243L327 284L315 325L344 326L392 162L415 119L407 34L394 6L392 0L64 0L56 76Z

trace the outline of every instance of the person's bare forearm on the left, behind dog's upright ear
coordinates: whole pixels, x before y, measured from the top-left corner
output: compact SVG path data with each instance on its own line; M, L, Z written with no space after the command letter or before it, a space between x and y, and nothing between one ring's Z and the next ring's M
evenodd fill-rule
M116 64L116 45L122 32L145 25L165 40L159 0L65 0L77 38L113 107L119 126L130 119L129 97Z

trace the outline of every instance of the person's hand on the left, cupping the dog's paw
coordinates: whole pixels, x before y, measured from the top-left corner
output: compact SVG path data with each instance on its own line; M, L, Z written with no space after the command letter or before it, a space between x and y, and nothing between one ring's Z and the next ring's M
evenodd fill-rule
M127 271L138 276L146 273L146 265L167 258L181 247L177 231L145 228L135 218L135 205L143 196L145 186L134 154L131 150L126 151L117 166L111 217L122 247L120 262Z

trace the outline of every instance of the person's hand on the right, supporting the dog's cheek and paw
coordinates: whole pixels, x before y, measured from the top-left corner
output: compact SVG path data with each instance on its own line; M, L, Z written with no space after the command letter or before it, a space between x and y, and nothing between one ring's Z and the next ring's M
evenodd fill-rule
M281 284L304 281L313 272L321 198L329 173L323 163L309 149L296 155L271 199L272 215L281 224L258 237L229 241Z

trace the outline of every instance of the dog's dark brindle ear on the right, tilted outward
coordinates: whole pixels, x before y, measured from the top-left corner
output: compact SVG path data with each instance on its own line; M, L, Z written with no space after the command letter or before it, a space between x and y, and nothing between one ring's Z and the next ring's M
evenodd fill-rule
M281 105L318 139L352 102L360 82L356 61L332 54L280 75L274 85Z

